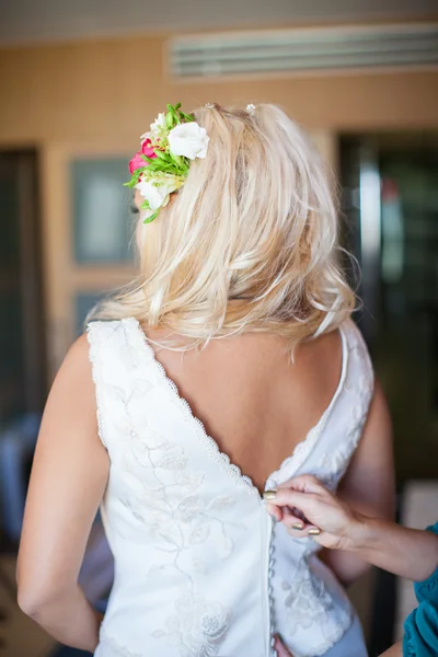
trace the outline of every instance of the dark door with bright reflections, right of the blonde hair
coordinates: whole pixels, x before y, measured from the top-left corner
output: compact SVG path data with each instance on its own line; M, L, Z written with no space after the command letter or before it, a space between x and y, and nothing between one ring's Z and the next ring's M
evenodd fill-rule
M359 314L389 399L399 481L438 462L438 135L341 140L344 238Z

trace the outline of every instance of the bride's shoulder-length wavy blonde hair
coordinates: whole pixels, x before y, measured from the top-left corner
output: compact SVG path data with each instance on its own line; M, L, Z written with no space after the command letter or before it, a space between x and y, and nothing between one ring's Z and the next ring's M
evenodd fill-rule
M355 296L315 148L277 106L194 112L210 138L184 187L142 228L140 275L90 319L135 316L186 348L244 332L300 342L336 328Z

